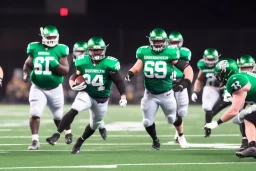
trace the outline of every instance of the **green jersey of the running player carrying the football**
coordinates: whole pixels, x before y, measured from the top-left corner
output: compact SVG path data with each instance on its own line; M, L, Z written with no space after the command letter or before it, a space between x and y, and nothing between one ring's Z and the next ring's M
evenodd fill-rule
M112 89L111 72L120 70L118 59L106 56L97 64L93 64L90 56L79 56L75 60L75 66L86 81L86 91L93 98L108 98Z

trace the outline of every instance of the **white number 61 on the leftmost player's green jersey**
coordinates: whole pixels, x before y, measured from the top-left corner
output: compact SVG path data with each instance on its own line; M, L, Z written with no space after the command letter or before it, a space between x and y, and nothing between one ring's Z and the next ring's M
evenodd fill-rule
M54 60L53 56L47 57L37 57L34 63L35 74L37 75L51 75L52 71L50 71L50 62ZM43 69L43 65L45 66Z

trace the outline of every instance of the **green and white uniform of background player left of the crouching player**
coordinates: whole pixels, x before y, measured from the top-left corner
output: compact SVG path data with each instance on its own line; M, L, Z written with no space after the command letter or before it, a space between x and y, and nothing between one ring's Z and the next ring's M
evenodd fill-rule
M214 76L215 65L208 67L205 65L204 60L201 59L197 62L197 67L203 72L203 75L206 78L202 95L202 108L205 111L211 111L217 100L220 98L220 90L217 87L217 79Z

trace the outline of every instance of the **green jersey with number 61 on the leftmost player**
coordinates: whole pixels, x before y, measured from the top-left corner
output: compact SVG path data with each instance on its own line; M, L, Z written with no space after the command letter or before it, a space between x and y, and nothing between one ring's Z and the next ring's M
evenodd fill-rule
M40 42L32 42L27 47L27 54L32 57L33 70L30 73L32 83L40 88L55 88L63 82L63 76L53 71L51 63L69 54L66 45L58 44L45 47Z

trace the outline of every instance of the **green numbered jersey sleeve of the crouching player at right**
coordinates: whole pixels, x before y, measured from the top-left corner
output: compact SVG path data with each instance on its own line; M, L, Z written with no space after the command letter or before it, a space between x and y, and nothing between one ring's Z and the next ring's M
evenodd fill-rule
M249 80L245 76L235 74L228 79L226 89L230 94L232 94L234 91L243 88L246 84L248 84L248 82Z

